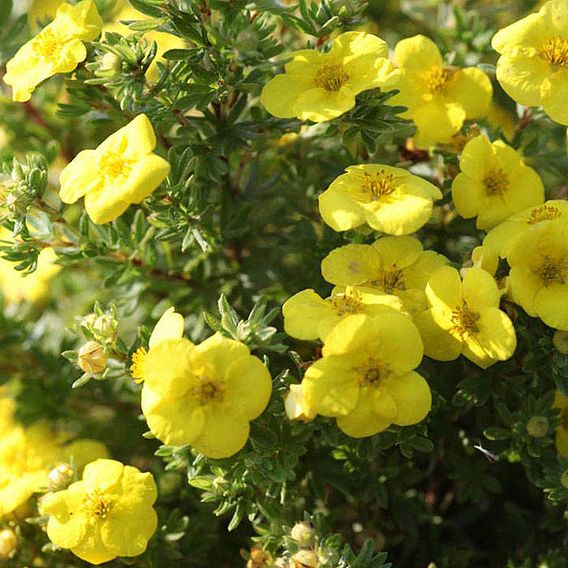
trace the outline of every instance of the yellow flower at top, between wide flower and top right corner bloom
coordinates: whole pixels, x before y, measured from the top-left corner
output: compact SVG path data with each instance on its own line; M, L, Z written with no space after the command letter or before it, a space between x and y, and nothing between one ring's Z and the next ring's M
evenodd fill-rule
M431 39L423 35L403 39L394 57L399 71L386 78L384 87L400 92L387 104L408 107L401 116L416 124L417 147L448 143L466 119L489 112L493 89L487 75L476 67L445 65Z

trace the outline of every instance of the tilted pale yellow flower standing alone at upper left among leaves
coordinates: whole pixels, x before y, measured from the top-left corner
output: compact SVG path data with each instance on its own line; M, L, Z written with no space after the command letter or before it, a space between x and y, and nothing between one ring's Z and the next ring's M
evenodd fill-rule
M95 150L83 150L61 172L59 195L63 203L85 197L94 223L120 217L131 203L141 203L166 178L170 166L153 153L152 124L139 114L109 136Z

